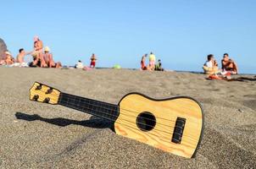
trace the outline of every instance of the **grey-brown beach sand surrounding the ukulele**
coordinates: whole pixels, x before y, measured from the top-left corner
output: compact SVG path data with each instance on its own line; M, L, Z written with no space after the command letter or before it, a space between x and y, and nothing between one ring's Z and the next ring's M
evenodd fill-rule
M0 79L0 168L256 168L256 81L47 68L0 68ZM35 81L114 104L134 91L156 99L192 96L205 116L198 154L193 159L171 155L114 134L105 120L29 101Z

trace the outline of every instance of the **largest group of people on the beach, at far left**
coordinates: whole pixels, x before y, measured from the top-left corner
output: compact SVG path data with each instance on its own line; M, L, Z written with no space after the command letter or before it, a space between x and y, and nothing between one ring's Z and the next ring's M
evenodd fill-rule
M31 55L33 61L25 63L25 56ZM42 41L38 36L34 37L34 49L32 52L25 52L23 48L19 49L16 59L10 52L5 52L5 58L0 61L0 65L10 67L41 67L41 68L61 68L61 63L53 61L53 54L48 46L43 47Z

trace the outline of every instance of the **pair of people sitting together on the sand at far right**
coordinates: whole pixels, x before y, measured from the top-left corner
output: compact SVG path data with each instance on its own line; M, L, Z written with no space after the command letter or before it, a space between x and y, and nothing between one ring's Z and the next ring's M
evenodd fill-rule
M209 77L215 77L216 79L221 79L231 74L238 74L237 63L229 57L228 53L224 53L223 55L221 68L219 68L214 55L209 54L207 61L203 64L203 70L205 74L209 74Z

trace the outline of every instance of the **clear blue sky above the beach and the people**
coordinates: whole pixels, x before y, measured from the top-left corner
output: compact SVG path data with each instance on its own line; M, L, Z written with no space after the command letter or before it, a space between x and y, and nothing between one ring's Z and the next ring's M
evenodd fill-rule
M256 74L254 0L66 0L1 2L0 38L14 55L39 35L54 60L139 68L154 52L164 68L202 71L206 56L228 52L241 73Z

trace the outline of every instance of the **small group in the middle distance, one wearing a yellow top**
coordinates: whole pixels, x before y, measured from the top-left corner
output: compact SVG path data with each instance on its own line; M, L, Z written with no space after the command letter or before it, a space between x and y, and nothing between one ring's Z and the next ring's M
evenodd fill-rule
M156 63L156 57L153 54L153 52L150 52L148 60L149 63L146 64L146 58L147 58L147 53L142 56L141 60L141 70L149 70L149 71L164 71L164 68L162 68L162 63L161 60L159 59L158 62Z

